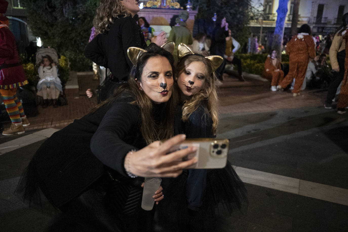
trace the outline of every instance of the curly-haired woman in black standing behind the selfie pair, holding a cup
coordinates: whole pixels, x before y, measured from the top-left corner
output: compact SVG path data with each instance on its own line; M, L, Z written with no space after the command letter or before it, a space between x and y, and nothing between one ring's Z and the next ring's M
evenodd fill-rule
M111 72L98 91L98 101L109 98L117 86L127 82L133 65L127 56L128 47L147 47L133 18L139 10L137 0L101 0L97 8L93 25L99 34L86 46L85 56ZM151 39L158 46L165 41L165 32Z

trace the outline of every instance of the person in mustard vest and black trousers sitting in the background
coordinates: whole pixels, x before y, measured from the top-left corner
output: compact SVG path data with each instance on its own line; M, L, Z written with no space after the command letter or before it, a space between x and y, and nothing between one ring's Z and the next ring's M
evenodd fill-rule
M234 46L233 49L232 49L232 45ZM240 48L239 42L232 37L231 30L228 30L228 37L226 37L226 49L225 49L225 54L223 55L223 57L227 60L227 62L225 60L226 63L237 65L238 80L240 80L241 82L245 82L245 79L242 75L242 61L235 56L235 53L238 51L239 48Z

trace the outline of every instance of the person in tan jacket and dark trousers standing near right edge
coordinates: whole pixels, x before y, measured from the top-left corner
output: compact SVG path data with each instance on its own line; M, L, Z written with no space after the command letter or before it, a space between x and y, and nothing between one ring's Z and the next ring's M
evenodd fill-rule
M342 36L342 32L347 28L348 13L342 16L342 25L336 30L332 40L332 44L329 51L331 67L333 71L333 78L327 90L325 109L332 109L332 99L335 98L335 94L338 86L343 80L345 74L345 56L346 56L346 39Z

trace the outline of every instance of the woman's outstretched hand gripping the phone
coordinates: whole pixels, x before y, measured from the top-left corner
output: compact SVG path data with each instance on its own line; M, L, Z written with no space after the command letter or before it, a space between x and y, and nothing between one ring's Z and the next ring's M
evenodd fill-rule
M182 161L183 157L196 152L197 148L193 146L167 154L172 146L185 138L184 134L179 134L163 143L155 141L137 152L129 152L125 157L126 171L142 177L179 176L183 169L197 162L196 157Z

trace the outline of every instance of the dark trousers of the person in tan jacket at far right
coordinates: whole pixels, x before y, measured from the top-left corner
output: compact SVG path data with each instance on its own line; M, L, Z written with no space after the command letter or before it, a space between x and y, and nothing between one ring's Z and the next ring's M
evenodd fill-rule
M340 71L333 73L332 81L327 90L327 96L325 101L325 105L327 106L330 106L332 104L332 99L334 99L335 94L337 92L337 88L343 80L343 76L345 75L345 57L346 50L342 50L341 52L337 53L337 61L340 67Z

